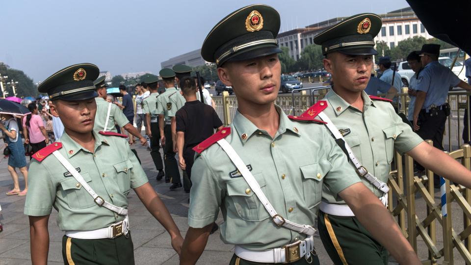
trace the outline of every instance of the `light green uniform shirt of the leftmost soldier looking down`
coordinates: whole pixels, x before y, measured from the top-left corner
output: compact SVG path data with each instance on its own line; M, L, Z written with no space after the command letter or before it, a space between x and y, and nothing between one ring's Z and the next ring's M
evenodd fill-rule
M97 132L93 135L94 154L72 140L66 132L60 137L62 148L58 151L98 196L118 207L128 208L126 195L131 188L146 184L147 176L125 138ZM58 212L57 225L63 231L96 230L124 219L124 216L98 206L52 154L41 162L32 159L28 175L26 215L48 215L53 207Z

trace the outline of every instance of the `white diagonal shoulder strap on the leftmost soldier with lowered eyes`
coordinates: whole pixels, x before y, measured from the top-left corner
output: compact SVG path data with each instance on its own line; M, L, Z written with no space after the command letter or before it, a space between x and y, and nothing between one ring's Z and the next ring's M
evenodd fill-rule
M128 209L124 209L122 207L118 207L115 205L110 204L109 202L105 201L102 197L98 196L97 193L88 185L88 183L83 179L83 177L77 172L77 170L72 166L72 164L65 159L59 151L54 151L52 152L52 155L59 160L59 162L74 176L74 178L82 185L82 187L93 197L93 200L95 201L98 206L103 206L106 209L109 209L113 212L118 213L119 215L127 215L128 214Z

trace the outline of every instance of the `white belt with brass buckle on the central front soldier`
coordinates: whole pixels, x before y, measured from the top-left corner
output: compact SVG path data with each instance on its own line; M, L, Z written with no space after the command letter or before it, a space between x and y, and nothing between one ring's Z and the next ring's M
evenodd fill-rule
M292 263L303 257L309 259L312 251L314 251L314 236L265 251L252 251L237 245L235 246L235 255L237 257L246 261L260 263Z

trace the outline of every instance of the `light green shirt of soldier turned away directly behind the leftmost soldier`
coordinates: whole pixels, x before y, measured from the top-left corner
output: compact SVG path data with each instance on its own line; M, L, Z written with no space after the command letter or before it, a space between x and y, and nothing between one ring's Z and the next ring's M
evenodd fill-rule
M97 102L97 114L95 115L95 125L93 126L93 130L96 132L104 131L109 102L100 97L96 97L95 101ZM128 124L129 120L116 104L111 103L106 131L118 132L114 126L115 123L121 128Z

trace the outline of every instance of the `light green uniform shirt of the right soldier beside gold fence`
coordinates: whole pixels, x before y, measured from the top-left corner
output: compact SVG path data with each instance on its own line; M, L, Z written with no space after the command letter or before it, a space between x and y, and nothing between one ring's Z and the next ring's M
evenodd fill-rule
M388 183L391 161L394 158L394 148L401 154L409 152L423 140L412 131L412 128L403 123L394 112L391 103L371 100L363 91L363 112L350 106L340 98L334 90L330 90L323 100L327 101L324 113L332 120L334 125L352 149L355 157L373 176L384 183ZM354 168L353 164L351 167ZM373 193L381 197L383 192L370 184L365 178L363 183ZM330 203L344 204L335 197L328 187L324 188L323 200Z

